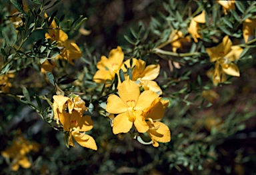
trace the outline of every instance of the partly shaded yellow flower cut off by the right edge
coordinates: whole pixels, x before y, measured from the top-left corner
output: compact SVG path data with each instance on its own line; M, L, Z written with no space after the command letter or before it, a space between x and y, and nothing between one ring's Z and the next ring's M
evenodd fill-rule
M255 35L256 29L256 19L245 19L243 21L243 39L245 39L245 43L247 43L250 35Z

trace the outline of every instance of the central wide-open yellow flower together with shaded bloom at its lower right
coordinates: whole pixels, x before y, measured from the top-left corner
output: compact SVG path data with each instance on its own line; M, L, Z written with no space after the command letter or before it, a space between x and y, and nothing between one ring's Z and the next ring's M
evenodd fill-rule
M114 134L129 132L135 126L137 132L149 134L153 146L171 140L168 126L159 122L169 100L161 100L152 90L140 92L138 85L129 77L119 86L118 94L109 96L106 106L107 112L117 114L113 119Z

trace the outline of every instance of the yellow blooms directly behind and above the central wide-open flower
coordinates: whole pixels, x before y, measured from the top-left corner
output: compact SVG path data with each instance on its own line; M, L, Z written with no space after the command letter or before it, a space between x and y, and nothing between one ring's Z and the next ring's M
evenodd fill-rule
M106 83L107 86L111 85L109 81L113 81L115 74L119 76L120 69L127 75L127 70L131 70L131 80L138 81L139 87L144 90L153 90L159 94L162 93L161 88L154 79L157 78L160 71L159 65L148 65L146 67L145 61L141 59L131 59L123 62L124 54L121 47L117 49L112 49L109 53L109 59L102 56L101 61L97 63L97 68L99 69L94 77L93 81L96 83ZM132 64L131 64L132 63ZM127 76L125 76L126 78ZM119 80L118 85L121 85Z

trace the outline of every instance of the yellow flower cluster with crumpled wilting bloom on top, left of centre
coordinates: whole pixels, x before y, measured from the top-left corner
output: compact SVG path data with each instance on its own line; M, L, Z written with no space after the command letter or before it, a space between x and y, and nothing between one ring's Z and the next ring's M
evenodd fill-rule
M87 108L81 97L72 94L71 98L69 98L59 94L53 96L53 100L53 119L57 120L57 124L61 122L63 125L67 147L69 148L69 145L75 146L72 139L73 136L81 146L97 150L93 137L85 134L85 132L93 128L93 120L91 120L91 116L83 115Z

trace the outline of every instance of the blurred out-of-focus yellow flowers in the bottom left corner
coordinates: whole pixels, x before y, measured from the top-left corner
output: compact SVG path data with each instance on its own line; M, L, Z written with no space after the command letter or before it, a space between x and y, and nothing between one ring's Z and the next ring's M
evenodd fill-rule
M37 152L39 150L39 144L25 140L21 132L18 130L18 136L13 140L11 147L3 150L1 155L9 164L11 170L17 171L19 166L22 168L31 167L31 162L26 155L32 150Z

